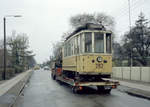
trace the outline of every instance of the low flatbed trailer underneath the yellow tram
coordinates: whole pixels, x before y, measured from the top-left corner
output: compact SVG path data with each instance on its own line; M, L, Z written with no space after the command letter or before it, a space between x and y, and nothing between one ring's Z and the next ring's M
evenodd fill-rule
M110 93L111 89L115 89L119 85L118 81L114 81L111 79L105 79L105 78L102 78L101 81L98 81L98 82L76 81L75 79L64 76L61 72L62 72L61 68L53 69L51 72L52 78L54 80L58 80L63 83L69 84L72 87L72 91L74 93L79 92L85 86L97 86L99 93Z

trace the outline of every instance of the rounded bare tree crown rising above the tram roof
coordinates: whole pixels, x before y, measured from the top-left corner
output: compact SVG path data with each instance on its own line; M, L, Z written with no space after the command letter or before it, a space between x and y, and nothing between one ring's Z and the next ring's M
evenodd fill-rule
M104 13L94 13L94 14L77 14L70 18L70 25L73 28L77 28L85 25L86 23L102 24L107 30L113 31L114 29L114 18L108 16Z

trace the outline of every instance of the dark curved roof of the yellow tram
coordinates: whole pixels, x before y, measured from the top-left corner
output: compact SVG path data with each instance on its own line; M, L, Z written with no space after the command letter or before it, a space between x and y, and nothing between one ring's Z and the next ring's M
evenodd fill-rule
M93 23L86 23L83 26L78 27L74 32L72 32L67 38L66 40L68 40L71 36L73 36L74 34L82 31L82 30L106 30L105 27L101 24L93 24Z

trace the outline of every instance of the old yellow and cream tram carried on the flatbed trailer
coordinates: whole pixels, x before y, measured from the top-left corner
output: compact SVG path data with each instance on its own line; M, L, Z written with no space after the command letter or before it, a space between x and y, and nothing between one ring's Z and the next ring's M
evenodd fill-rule
M112 32L103 26L88 23L79 27L66 39L62 52L62 69L69 76L109 78L112 73Z

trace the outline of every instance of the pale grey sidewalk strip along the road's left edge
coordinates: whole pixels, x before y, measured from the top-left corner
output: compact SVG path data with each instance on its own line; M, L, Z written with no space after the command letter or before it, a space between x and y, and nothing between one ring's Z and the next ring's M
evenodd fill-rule
M0 107L12 107L31 75L26 71L0 84Z

